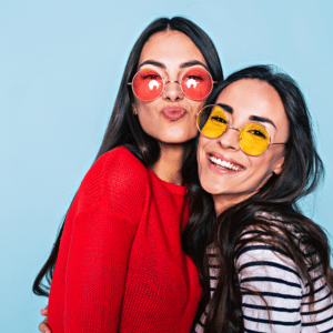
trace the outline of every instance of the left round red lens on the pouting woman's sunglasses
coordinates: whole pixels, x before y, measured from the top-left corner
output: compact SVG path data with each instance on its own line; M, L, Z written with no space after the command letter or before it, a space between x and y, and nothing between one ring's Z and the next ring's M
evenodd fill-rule
M135 74L132 89L138 99L153 101L163 91L163 79L157 71L144 69Z

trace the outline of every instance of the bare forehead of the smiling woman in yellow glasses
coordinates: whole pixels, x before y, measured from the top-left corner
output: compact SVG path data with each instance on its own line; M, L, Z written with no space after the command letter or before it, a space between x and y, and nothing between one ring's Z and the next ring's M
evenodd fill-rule
M242 79L228 85L218 97L216 103L233 109L233 117L249 119L259 115L271 119L276 125L287 124L283 103L278 91L258 79Z

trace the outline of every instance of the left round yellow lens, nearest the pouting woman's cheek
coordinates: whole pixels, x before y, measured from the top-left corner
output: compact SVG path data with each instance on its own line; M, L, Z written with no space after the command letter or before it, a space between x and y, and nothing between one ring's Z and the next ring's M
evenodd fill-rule
M222 108L208 105L200 111L196 122L204 137L215 139L226 130L228 118Z

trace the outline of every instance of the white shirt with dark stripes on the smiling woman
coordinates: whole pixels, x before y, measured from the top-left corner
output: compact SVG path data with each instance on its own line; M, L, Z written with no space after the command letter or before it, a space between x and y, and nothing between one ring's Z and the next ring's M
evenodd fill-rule
M209 255L212 296L219 268L213 249L209 251ZM314 283L312 309L309 307L309 285L302 281L295 263L275 248L265 243L249 243L236 259L235 265L241 291L245 287L258 292L271 309L269 315L261 296L242 291L244 333L333 332L333 296L320 265L307 269ZM203 332L205 313L195 326L195 333Z

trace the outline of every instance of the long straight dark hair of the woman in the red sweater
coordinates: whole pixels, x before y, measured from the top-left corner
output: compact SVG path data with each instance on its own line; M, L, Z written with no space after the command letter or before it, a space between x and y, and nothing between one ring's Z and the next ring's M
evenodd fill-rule
M160 157L160 145L154 138L148 135L142 130L138 117L134 117L132 110L132 103L134 101L133 93L131 88L128 85L128 82L132 81L137 72L141 50L145 42L154 33L165 30L180 31L186 34L203 54L213 80L223 80L222 67L216 49L210 37L200 27L181 17L174 17L172 19L160 18L154 20L140 34L132 48L114 102L112 115L95 160L109 150L124 145L129 148L144 165L152 165L158 161ZM191 150L194 150L194 140L195 139L185 143L184 159L186 159L186 154L189 154ZM191 169L191 165L189 164L183 165L182 168L184 183L190 181L190 173L188 172L189 169ZM37 295L49 295L49 285L51 284L53 275L63 225L64 222L62 223L48 261L34 280L32 290ZM43 279L47 280L48 285L42 283Z

